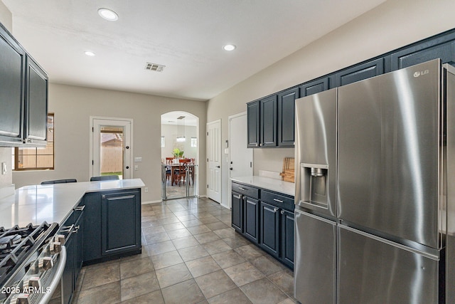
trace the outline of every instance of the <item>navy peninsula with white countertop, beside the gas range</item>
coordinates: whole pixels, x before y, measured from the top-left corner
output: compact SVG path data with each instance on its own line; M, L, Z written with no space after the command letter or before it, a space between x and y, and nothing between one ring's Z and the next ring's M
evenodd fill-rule
M142 187L141 179L22 187L0 199L0 226L60 226L55 237L64 239L65 266L54 294L71 303L82 263L141 253Z

